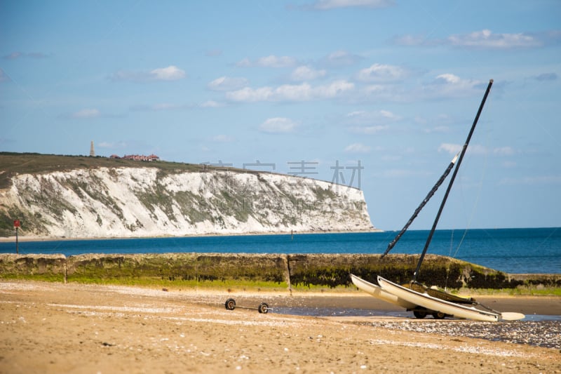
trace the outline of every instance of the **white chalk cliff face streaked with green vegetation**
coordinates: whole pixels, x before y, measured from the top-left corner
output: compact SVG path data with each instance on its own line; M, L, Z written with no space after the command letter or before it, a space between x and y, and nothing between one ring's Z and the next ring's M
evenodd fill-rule
M0 191L20 235L183 236L371 230L363 192L290 175L95 168L22 174Z

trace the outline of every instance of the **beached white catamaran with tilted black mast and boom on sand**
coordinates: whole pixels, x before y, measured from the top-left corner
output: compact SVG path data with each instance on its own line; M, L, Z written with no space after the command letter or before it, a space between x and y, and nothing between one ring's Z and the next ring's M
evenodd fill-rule
M522 313L498 312L489 307L485 307L485 305L480 304L480 302L477 302L473 298L463 298L461 296L453 295L443 290L439 290L438 288L429 288L417 281L417 276L419 275L421 264L424 260L426 251L428 250L428 246L433 238L436 226L438 225L440 214L444 209L446 200L448 198L448 195L450 194L450 189L452 189L452 184L454 183L454 179L456 178L456 175L458 173L461 161L462 159L464 159L464 154L468 149L468 144L471 140L471 136L473 135L473 131L475 130L475 125L478 123L479 116L482 112L483 106L485 105L485 101L487 100L489 91L491 91L492 85L493 80L491 79L489 81L489 85L487 86L487 90L485 91L485 95L483 96L483 100L481 101L481 104L479 106L478 113L475 115L475 119L473 121L473 124L471 125L471 130L468 133L468 138L466 139L464 146L461 148L461 151L458 152L456 156L454 156L454 159L452 159L445 172L440 176L434 187L430 192L428 192L419 207L415 209L413 215L407 221L403 229L401 229L401 231L397 234L396 238L388 244L388 248L386 249L384 254L381 255L381 258L384 258L384 256L387 255L389 251L391 251L393 246L396 245L397 241L405 233L413 220L417 218L417 215L419 215L421 209L435 194L438 187L442 185L442 182L444 182L448 174L450 174L450 171L452 171L452 168L454 168L455 166L454 173L452 173L452 177L450 178L450 182L448 183L448 187L446 189L442 202L440 203L440 208L438 209L438 213L436 214L436 218L433 222L433 227L428 234L425 246L423 248L423 251L421 252L419 261L417 262L417 268L413 273L412 281L405 285L399 285L397 283L388 281L381 276L377 276L378 284L376 285L369 281L365 281L364 279L361 279L354 274L351 274L351 281L353 281L354 285L360 290L369 293L375 298L379 298L394 305L404 307L405 309L412 311L414 316L417 318L424 318L428 314L432 314L435 319L443 319L447 316L453 316L461 319L473 319L475 321L496 322L500 320L515 321L518 319L523 319L525 317L525 315Z

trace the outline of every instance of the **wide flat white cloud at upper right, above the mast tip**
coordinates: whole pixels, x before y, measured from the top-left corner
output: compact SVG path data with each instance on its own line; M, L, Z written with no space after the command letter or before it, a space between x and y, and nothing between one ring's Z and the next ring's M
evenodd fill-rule
M455 34L448 36L447 41L452 46L475 48L529 48L542 46L543 42L527 34L493 34L491 30L471 32L470 34Z

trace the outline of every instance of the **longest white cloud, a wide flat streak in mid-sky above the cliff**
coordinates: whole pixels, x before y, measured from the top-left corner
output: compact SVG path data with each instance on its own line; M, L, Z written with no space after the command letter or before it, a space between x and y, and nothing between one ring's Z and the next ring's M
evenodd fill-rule
M228 92L227 98L237 102L257 101L308 101L317 99L336 98L347 91L351 91L354 84L348 81L333 81L330 84L313 87L310 84L284 84L277 88L245 87L238 91Z

